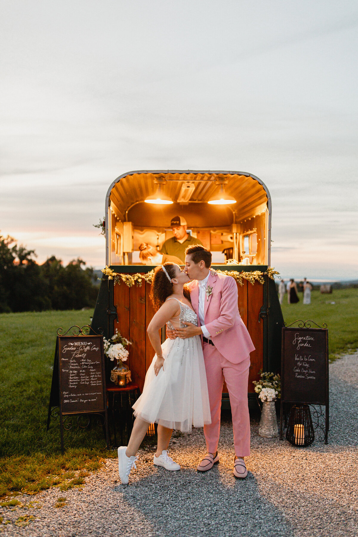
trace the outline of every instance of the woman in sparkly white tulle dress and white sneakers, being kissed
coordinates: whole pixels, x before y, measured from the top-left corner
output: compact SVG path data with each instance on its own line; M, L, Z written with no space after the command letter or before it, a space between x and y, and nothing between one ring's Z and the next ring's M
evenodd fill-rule
M165 324L172 330L184 327L185 322L198 326L190 292L185 288L188 281L187 274L174 263L158 266L154 272L150 298L157 311L147 332L155 355L145 375L143 393L133 405L136 419L128 446L118 448L123 484L128 483L130 470L136 467L136 453L151 423L158 424L154 464L167 470L180 470L167 454L173 429L187 432L192 426L211 423L200 336L167 338L160 344L159 330Z

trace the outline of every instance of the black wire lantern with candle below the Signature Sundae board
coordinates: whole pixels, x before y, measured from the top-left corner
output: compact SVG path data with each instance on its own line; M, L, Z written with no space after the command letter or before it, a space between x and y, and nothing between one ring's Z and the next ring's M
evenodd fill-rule
M293 405L288 418L286 439L293 446L306 447L315 440L315 431L308 404Z

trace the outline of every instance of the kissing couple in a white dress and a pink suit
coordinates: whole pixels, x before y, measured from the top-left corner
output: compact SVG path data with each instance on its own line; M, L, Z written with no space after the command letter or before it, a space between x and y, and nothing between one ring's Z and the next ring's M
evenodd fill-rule
M150 298L156 313L147 328L155 355L145 376L143 393L133 405L135 422L128 446L118 448L123 484L129 482L130 470L136 468L136 453L151 423L158 424L154 465L180 470L167 448L173 429L188 432L192 426L204 428L207 447L197 470L208 471L219 462L224 380L232 413L233 475L247 475L247 383L254 346L239 314L235 279L210 266L211 252L193 245L186 249L184 270L170 262L155 269ZM159 330L164 325L168 337L161 344Z

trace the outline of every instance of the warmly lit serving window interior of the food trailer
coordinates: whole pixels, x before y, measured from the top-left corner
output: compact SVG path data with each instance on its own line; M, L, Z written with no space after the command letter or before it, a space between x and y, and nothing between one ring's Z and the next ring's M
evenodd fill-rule
M179 215L187 222L187 233L211 251L213 264L267 265L268 199L258 179L236 173L122 177L107 196L107 264L141 265L140 245L160 252L173 237L172 217Z

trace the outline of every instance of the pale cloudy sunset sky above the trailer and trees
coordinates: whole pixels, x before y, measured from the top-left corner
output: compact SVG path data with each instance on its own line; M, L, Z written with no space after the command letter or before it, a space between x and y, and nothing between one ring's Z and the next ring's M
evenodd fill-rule
M284 277L357 279L358 6L2 0L0 230L105 265L131 170L252 173Z

